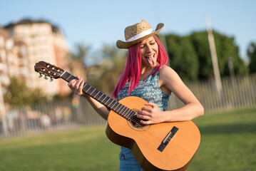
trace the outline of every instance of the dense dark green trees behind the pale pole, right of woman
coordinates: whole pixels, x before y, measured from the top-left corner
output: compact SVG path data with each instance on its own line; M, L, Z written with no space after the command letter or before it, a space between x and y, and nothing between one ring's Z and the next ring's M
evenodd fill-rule
M232 58L235 74L246 75L248 69L240 58L235 38L225 36L217 31L213 31L213 34L220 76L230 76L229 58ZM214 77L207 31L193 32L188 36L169 34L165 38L171 61L170 66L183 80L195 81L196 79L203 80Z

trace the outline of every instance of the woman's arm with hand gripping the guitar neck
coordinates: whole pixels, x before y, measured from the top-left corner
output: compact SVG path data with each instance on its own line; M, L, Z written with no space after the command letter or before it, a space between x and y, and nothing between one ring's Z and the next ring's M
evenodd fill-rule
M106 108L105 105L102 105L101 103L99 103L97 100L95 100L95 99L91 98L90 96L86 95L85 93L83 93L82 90L83 90L84 81L80 76L77 76L76 78L78 78L78 80L72 80L68 83L68 86L71 88L73 93L75 93L77 95L84 96L88 100L88 102L91 104L91 106L94 108L94 110L96 110L96 112L99 115L101 115L102 118L107 120L108 113L109 113L108 108ZM115 98L113 98L113 99L115 99Z

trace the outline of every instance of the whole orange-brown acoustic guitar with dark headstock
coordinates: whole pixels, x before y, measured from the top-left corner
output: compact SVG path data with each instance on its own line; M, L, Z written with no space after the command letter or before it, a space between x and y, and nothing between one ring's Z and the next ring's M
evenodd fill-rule
M69 82L77 79L61 68L39 61L35 71L51 78ZM130 96L116 101L99 90L83 86L83 93L111 109L106 123L109 140L128 147L143 170L186 170L200 145L200 131L191 120L185 122L143 125L136 112L147 103L142 98ZM148 106L146 106L148 108Z

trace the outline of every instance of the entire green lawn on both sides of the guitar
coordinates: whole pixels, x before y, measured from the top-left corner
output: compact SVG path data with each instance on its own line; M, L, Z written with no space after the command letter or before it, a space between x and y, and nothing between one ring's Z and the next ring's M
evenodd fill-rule
M188 171L255 170L256 108L195 119L201 144ZM0 140L1 171L118 170L120 147L104 126Z

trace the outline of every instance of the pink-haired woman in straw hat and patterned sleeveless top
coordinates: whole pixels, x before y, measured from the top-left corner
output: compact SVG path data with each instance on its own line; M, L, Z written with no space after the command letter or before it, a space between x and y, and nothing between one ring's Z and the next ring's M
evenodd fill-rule
M118 48L128 48L126 68L119 78L112 98L121 100L127 96L138 96L148 103L150 108L141 108L138 118L144 125L192 120L203 115L203 106L195 95L181 81L172 68L166 66L168 56L162 44L155 36L163 28L158 24L155 31L147 21L128 26L125 30L126 41L117 41ZM109 110L101 103L82 92L83 80L70 81L68 86L77 95L83 95L104 119L108 119ZM185 105L175 110L167 110L170 94L180 98ZM120 170L143 170L135 160L133 153L121 147Z

